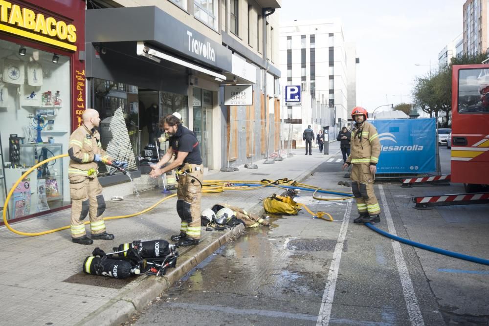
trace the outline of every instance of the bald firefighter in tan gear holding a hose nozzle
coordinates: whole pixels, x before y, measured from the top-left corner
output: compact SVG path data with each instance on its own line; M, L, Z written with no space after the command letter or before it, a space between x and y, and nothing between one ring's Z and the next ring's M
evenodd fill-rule
M83 123L69 137L68 166L69 195L71 197L71 238L75 243L92 244L92 239L112 240L113 234L106 232L102 213L105 200L102 186L98 182L98 162L125 169L126 162L112 160L102 149L100 134L95 129L100 124L96 110L86 109ZM85 232L84 219L89 215L91 239Z

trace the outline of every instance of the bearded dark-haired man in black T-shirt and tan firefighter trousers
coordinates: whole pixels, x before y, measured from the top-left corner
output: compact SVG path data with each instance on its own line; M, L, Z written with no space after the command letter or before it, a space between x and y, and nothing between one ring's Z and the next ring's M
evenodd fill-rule
M172 236L178 246L190 246L199 243L200 239L200 198L202 196L203 165L200 145L194 132L184 127L180 119L172 114L161 118L160 128L172 135L168 151L161 160L152 166L151 177L157 177L177 169L177 213L181 219L180 234ZM176 159L170 161L173 154Z

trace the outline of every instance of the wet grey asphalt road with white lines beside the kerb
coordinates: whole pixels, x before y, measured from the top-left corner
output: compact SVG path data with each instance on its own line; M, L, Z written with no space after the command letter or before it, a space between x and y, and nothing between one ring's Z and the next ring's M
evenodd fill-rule
M440 154L442 171L447 173L449 152L440 146ZM349 191L337 185L348 180L340 168L341 163L325 162L304 183ZM376 224L379 228L403 238L418 237L425 243L443 238L437 233L440 225L409 225L410 215L417 214L422 220L443 219L437 210L419 213L411 208L410 196L417 190L384 183L376 186L376 194L383 207L382 221ZM357 214L352 203L318 201L307 192L296 200L312 211L332 214L334 221L313 219L301 211L294 217L271 218L271 228L248 229L246 235L202 262L131 323L488 325L489 299L480 295L489 293L488 268L465 263L464 270L480 272L469 278L440 273L435 267L455 268L461 263L399 245L354 224L352 219ZM487 222L481 223L487 230ZM475 236L487 245L484 234ZM453 243L458 243L455 238ZM449 244L444 244L449 249Z

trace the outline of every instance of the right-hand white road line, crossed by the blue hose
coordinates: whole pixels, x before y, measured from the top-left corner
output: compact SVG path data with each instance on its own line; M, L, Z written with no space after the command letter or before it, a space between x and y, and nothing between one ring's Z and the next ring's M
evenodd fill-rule
M385 198L384 188L382 185L378 185L378 191L380 193L382 208L384 211L385 220L387 221L389 233L397 236L396 228L394 227L394 222L392 221L389 206L387 206L387 199ZM423 316L418 304L418 299L416 298L416 293L414 292L413 282L409 276L406 261L404 261L404 256L402 255L400 243L398 241L391 241L391 243L392 248L394 249L394 258L396 259L396 264L398 266L400 283L402 285L402 292L404 293L404 300L406 301L407 313L409 314L411 325L422 326L424 325Z

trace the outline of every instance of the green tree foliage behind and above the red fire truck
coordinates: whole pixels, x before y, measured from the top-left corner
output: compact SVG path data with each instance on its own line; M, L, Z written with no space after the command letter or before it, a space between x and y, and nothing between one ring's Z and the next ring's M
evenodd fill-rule
M440 110L445 112L441 127L448 127L452 106L452 66L480 64L487 59L487 53L462 55L452 58L448 66L441 67L437 72L429 72L415 80L413 89L414 104L420 107L430 117L438 121Z

